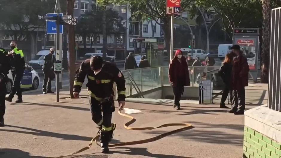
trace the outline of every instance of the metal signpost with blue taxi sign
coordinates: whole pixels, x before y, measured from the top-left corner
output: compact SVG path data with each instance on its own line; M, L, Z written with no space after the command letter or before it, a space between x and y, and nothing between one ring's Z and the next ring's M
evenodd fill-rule
M61 36L60 34L63 33L63 25L64 24L72 24L76 25L77 19L72 18L71 15L63 16L62 13L59 14L46 14L46 16L38 16L38 19L45 19L47 22L47 34L56 34L56 62L54 63L54 71L56 73L56 102L59 102L59 81L60 81L60 73L62 72L62 61L60 58L60 50L61 50Z

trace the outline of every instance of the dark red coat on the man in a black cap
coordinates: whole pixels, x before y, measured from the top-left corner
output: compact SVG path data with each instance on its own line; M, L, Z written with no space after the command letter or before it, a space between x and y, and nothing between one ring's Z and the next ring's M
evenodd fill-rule
M231 83L234 90L248 86L249 70L247 59L244 56L240 55L238 59L234 60L231 76Z

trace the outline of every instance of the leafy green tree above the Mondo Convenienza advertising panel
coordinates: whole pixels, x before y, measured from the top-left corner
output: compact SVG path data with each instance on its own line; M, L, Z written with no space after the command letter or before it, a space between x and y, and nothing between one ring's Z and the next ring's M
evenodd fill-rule
M196 0L195 5L205 9L213 8L222 18L230 39L235 27L261 28L262 26L260 0Z

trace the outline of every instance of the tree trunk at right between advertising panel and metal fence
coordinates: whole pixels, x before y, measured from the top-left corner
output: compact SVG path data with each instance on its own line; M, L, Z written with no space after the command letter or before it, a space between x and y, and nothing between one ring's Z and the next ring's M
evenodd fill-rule
M270 46L270 0L262 0L262 68L261 83L268 83L268 60Z

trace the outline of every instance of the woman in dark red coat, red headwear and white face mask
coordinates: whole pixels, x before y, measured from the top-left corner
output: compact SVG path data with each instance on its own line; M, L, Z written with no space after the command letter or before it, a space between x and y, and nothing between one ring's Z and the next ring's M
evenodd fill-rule
M182 57L181 50L176 50L174 59L170 62L169 82L172 84L174 92L174 108L180 110L180 99L184 86L190 86L188 65L186 59Z

